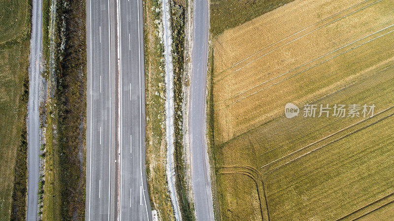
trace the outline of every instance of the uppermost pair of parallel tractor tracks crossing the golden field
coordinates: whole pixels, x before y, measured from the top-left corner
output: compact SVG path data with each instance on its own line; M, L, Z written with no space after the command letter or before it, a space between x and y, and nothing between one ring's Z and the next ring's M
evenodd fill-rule
M367 2L367 1L372 1L372 0L364 0L364 1L362 1L362 2L359 2L359 3L355 4L355 5L352 5L351 7L348 7L348 8L346 8L346 9L340 11L340 12L337 12L337 13L335 13L335 14L333 14L333 15L331 15L331 16L329 16L329 17L323 19L323 20L320 20L320 21L318 21L318 22L312 24L312 25L310 25L310 26L304 28L304 29L301 30L301 31L298 31L298 32L296 32L296 33L293 33L293 34L291 34L291 35L289 35L289 36L287 36L287 37L285 37L285 38L279 40L279 41L276 41L276 42L274 42L274 43L272 43L272 44L270 44L270 45L264 47L263 49L261 49L261 50L255 52L255 53L253 53L252 55L250 55L250 56L248 56L248 57L246 57L246 58L244 58L244 59L242 59L242 60L237 61L235 64L231 65L230 67L226 68L225 70L223 70L223 71L221 71L221 72L219 72L219 73L217 73L217 74L221 74L221 73L227 72L229 69L231 69L231 68L237 66L238 64L240 64L240 63L242 63L242 62L244 62L244 61L246 61L246 60L248 60L249 58L253 57L254 55L256 55L256 54L262 52L263 50L268 49L268 48L274 46L275 44L277 44L277 43L279 43L279 42L282 42L282 41L284 41L284 40L286 40L286 39L288 39L288 38L290 38L290 37L292 37L292 36L294 36L294 35L296 35L296 34L298 34L298 33L301 33L301 32L303 32L303 31L305 31L305 30L307 30L307 29L309 29L309 28L311 28L311 27L313 27L313 26L316 26L316 25L318 25L319 23L322 23L322 22L324 22L324 21L327 21L328 19L333 18L333 17L336 16L336 15L342 14L343 12L345 12L345 11L351 9L351 8L360 6L361 4L363 4L363 3ZM278 47L276 47L276 48L274 48L274 49L268 51L267 53L261 55L260 57L257 57L255 60L252 60L251 62L246 63L245 65L241 66L240 68L238 68L238 69L236 69L236 70L230 72L229 74L227 74L227 75L225 75L225 76L223 76L223 77L221 77L221 78L219 78L219 79L217 79L217 80L214 80L214 83L223 80L226 76L229 76L229 75L231 75L231 74L233 74L233 73L239 71L239 70L242 69L243 67L249 65L250 63L255 62L256 60L258 60L258 59L264 57L265 55L267 55L267 54L269 54L269 53L275 51L276 49L282 48L282 47L284 47L284 46L286 46L286 45L288 45L288 44L290 44L290 43L292 43L292 42L294 42L294 41L296 41L296 40L301 39L302 37L304 37L304 36L306 36L306 35L308 35L308 34L310 34L310 33L312 33L312 32L318 31L318 30L320 30L320 29L322 29L322 28L324 28L324 27L326 27L326 26L328 26L328 25L330 25L330 24L333 24L334 22L337 22L337 21L339 21L339 20L341 20L341 19L343 19L343 18L346 18L347 16L352 15L352 14L354 14L354 13L356 13L356 12L359 12L359 11L361 11L362 9L365 9L365 8L367 8L367 7L369 7L369 6L373 5L373 4L376 4L376 3L380 2L380 1L382 1L382 0L374 1L374 2L368 4L368 5L364 6L364 7L361 7L361 8L359 8L359 9L357 9L357 10L355 10L355 11L352 11L352 12L350 12L350 13L348 13L348 14L342 16L342 17L339 17L338 19L335 19L335 20L333 20L333 21L331 21L331 22L329 22L329 23L326 23L326 24L324 24L324 25L322 25L322 26L319 26L318 28L316 28L316 29L314 29L314 30L312 30L312 31L310 31L310 32L307 32L307 33L305 33L304 35L301 35L300 37L297 37L296 39L291 40L290 42L287 42L287 43L285 43L285 44L283 44L283 45L280 45L280 46L278 46ZM217 42L219 42L219 41L217 40ZM220 45L222 46L222 44L220 44ZM222 46L222 47L223 47L223 46Z

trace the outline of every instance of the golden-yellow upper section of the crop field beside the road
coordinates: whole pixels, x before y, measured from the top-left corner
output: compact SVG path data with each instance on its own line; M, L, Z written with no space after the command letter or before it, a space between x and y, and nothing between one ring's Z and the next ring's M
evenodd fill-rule
M298 18L300 15L291 12L300 11L300 2L311 5L311 11L317 10L312 7L315 3L311 0L294 1L255 19L262 20L260 23L252 20L241 26L243 30L255 28L258 32L248 32L243 38L237 38L233 30L229 30L214 41L217 144L279 117L287 102L303 105L306 101L316 100L368 74L375 66L394 59L394 48L387 47L394 37L394 11L391 9L394 1L360 3L353 0L353 6L343 5L332 11L331 17L325 15L321 22L312 21L318 25L311 28L308 25L296 30L290 28L287 33L280 29L279 34L265 29L278 24L276 19L265 19L276 14L286 14L282 16L288 19L284 27L299 26L301 22L293 21L292 16ZM289 7L293 7L292 10ZM290 12L283 11L285 9ZM272 24L266 24L269 21ZM277 37L264 41L264 34ZM291 37L284 39L289 35ZM281 42L276 43L278 41ZM245 42L253 43L248 45ZM267 45L273 46L266 48ZM363 61L369 57L373 59ZM238 63L242 58L246 59ZM224 65L223 61L228 64ZM342 65L344 63L347 65Z

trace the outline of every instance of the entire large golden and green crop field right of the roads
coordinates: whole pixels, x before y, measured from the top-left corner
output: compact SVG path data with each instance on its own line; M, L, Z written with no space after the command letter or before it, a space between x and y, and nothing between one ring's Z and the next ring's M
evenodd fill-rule
M212 36L222 220L394 216L393 4L295 0Z

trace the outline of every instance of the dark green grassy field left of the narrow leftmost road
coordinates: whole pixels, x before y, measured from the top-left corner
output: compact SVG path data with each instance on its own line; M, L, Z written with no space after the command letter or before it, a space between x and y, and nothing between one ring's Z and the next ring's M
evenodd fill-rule
M30 29L30 0L0 2L0 220L25 220Z

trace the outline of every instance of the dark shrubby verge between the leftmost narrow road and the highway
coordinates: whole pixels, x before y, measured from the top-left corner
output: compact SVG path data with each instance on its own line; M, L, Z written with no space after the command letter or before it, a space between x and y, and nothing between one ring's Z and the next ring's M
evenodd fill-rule
M49 14L51 1L43 2L44 55L53 72L46 104L45 185L42 220L85 220L86 160L86 32L85 2L56 1L56 14ZM51 16L54 51L50 45ZM49 64L47 64L47 67ZM53 74L52 74L53 73ZM53 89L53 91L52 91Z

